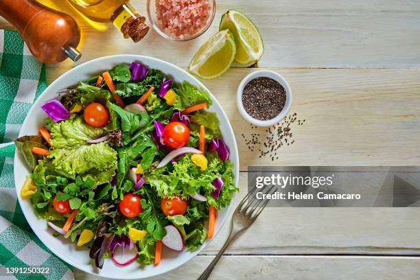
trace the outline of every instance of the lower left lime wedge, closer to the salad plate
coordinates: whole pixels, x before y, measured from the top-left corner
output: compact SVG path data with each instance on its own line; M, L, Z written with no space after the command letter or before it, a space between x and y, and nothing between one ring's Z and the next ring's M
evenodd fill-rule
M235 54L233 35L229 30L222 30L198 49L188 70L202 79L217 78L231 67Z

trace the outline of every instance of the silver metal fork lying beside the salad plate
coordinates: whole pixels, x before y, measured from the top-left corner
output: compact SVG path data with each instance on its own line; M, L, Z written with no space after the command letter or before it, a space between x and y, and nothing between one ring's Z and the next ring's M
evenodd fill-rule
M276 190L272 191L275 188L274 185L270 187L267 191L263 192L263 194L274 194ZM220 249L218 255L215 256L213 261L207 266L202 275L198 277L198 280L205 280L209 278L213 268L218 263L220 257L222 257L226 248L229 247L229 244L237 237L239 233L248 229L255 220L257 220L259 214L266 208L268 202L270 200L258 200L255 196L257 187L254 187L246 196L241 200L240 204L237 205L235 211L233 212L232 222L231 222L231 232L229 233L229 237L224 242L223 247Z

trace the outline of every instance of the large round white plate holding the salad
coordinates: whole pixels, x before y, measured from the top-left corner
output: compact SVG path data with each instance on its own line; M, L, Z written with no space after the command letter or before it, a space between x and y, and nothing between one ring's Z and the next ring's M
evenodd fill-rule
M118 63L131 63L134 60L139 60L144 65L147 65L150 68L159 69L166 73L167 75L172 76L176 82L183 82L184 80L198 86L202 89L205 89L210 97L213 100L213 105L209 109L218 114L220 119L220 130L222 132L224 141L229 146L231 150L230 160L234 166L235 174L235 184L238 184L239 178L239 157L237 152L237 145L235 141L235 135L233 135L233 130L229 119L226 117L222 106L219 102L215 100L215 97L210 93L210 91L194 78L192 75L172 65L163 60L156 58L150 58L148 56L136 56L136 55L119 55L119 56L106 56L103 58L97 58L89 62L85 62L74 69L71 69L60 78L55 80L48 88L43 92L42 95L36 100L34 106L32 106L30 112L27 114L25 121L21 128L19 137L23 135L37 135L38 128L43 125L43 120L47 116L44 111L40 108L48 100L54 99L57 96L57 93L63 89L67 89L70 86L74 86L81 80L87 80L93 75L102 73L108 69L113 68ZM29 174L23 159L20 154L16 152L14 157L14 183L16 185L16 192L19 198L19 203L21 204L23 214L27 222L29 222L32 230L36 233L39 239L58 257L67 261L67 263L83 270L84 272L89 272L93 275L100 275L102 277L109 277L114 279L139 279L146 277L153 277L156 275L161 275L165 272L173 270L182 264L185 264L189 259L200 253L208 244L209 241L206 241L200 249L195 252L188 252L184 250L183 252L177 253L173 250L165 248L162 253L162 260L159 266L141 266L139 263L134 262L129 266L119 267L116 266L111 259L106 259L104 263L104 268L102 270L95 268L95 264L92 259L89 258L89 250L86 248L78 248L75 246L75 243L70 240L65 240L63 237L54 237L52 235L53 231L47 229L47 222L42 219L38 219L32 209L32 205L29 200L22 199L20 196L21 187L25 181L26 176ZM215 235L218 234L226 218L231 211L232 204L230 207L220 211L218 215L218 223L215 229ZM213 237L214 239L215 237Z

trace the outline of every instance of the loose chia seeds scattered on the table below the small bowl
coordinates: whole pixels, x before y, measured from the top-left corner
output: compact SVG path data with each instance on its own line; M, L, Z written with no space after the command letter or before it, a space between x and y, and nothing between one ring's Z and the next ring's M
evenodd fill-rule
M296 121L298 126L303 126L305 123L305 119L297 119L297 114L293 113L286 116L279 124L266 128L264 130L265 133L261 128L250 125L251 133L247 135L242 133L246 148L251 152L257 151L260 158L268 156L271 161L279 159L279 149L283 145L292 145L294 143L294 139L292 139L292 124ZM257 129L259 130L256 131Z

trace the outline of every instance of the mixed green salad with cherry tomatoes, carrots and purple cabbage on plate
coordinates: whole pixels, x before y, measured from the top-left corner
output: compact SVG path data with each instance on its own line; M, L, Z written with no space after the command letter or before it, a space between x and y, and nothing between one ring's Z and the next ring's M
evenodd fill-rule
M98 268L196 250L238 191L209 106L206 91L137 61L79 82L43 104L39 135L16 139L31 171L21 196Z

